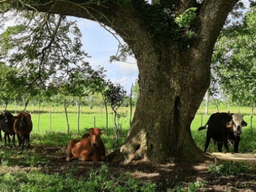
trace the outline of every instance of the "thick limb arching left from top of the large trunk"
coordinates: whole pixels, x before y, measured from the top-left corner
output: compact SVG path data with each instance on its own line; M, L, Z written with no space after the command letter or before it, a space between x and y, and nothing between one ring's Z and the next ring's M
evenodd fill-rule
M19 2L19 5L15 2ZM98 1L81 3L80 0L39 0L29 1L28 4L24 0L16 0L12 3L12 6L17 9L37 10L38 12L94 20L102 27L106 25L114 29L122 38L127 38L128 40L134 39L134 33L140 33L136 26L141 26L141 20L134 14L136 10L134 10L132 3L118 3L117 0L100 3ZM148 36L141 36L140 38L148 38Z

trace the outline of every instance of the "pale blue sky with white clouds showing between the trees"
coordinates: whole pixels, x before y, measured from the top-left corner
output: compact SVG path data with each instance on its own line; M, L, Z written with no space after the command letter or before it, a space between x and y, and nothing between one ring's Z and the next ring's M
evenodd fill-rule
M243 0L243 2L246 6L249 5L248 0ZM116 38L97 22L76 17L69 17L69 19L77 20L77 26L83 35L83 50L91 56L91 58L85 58L85 61L88 61L95 69L98 66L104 67L107 70L106 78L110 79L113 83L120 83L127 90L127 95L129 95L132 83L134 84L136 79L138 79L139 72L136 60L129 58L127 60L129 63L109 63L109 57L115 55L118 50L119 42ZM120 40L122 39L120 38Z

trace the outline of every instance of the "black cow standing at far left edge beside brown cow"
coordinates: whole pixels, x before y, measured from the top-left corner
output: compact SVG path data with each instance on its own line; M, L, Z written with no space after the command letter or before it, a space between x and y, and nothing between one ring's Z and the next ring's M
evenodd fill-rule
M10 136L13 136L13 146L15 146L15 132L13 130L13 115L9 112L2 113L0 115L0 138L2 141L1 131L4 132L4 143L6 145L6 137L8 138L8 142L10 145Z

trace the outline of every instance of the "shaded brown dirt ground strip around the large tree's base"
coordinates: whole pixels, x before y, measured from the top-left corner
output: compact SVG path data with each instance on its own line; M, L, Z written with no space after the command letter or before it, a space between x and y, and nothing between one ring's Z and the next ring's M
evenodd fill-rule
M99 169L108 164L111 178L118 179L121 173L129 172L131 177L141 182L154 182L157 191L166 192L177 186L188 187L190 182L205 182L198 191L256 191L256 173L239 173L236 176L218 176L208 172L209 163L93 163L65 161L66 150L63 147L33 147L32 153L42 154L47 161L40 166L44 173L59 172L63 175L72 170L74 177L87 177L88 168ZM30 153L30 152L29 152ZM24 168L24 167L23 167ZM27 168L29 169L29 168Z

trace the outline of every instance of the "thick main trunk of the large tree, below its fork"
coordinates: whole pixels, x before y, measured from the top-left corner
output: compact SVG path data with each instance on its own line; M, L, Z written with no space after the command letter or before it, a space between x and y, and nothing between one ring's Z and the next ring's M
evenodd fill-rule
M168 54L164 42L158 44L161 42L143 42L147 50L140 44L132 45L134 52L141 50L139 56L136 54L140 97L131 130L120 148L127 162L139 157L166 162L203 154L191 137L190 125L209 86L210 65L202 68L193 49ZM209 54L201 62L209 62Z

